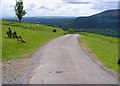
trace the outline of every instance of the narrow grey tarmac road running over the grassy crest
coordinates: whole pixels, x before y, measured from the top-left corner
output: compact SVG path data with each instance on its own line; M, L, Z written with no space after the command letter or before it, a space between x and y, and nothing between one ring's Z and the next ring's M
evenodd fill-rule
M78 34L50 41L36 56L41 58L31 84L118 84L80 48Z

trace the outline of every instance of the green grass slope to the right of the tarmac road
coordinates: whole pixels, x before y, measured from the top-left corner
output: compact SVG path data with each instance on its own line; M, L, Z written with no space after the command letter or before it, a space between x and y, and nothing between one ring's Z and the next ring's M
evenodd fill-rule
M84 47L100 60L108 69L118 72L118 38L81 32Z

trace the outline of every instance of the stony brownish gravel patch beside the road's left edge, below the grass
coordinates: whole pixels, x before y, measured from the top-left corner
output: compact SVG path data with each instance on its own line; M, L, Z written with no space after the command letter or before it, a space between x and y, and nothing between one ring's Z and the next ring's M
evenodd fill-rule
M44 47L39 49L39 52L37 51L31 58L22 58L3 62L2 84L29 84L34 69L40 63L40 57L42 55L40 53L43 49Z

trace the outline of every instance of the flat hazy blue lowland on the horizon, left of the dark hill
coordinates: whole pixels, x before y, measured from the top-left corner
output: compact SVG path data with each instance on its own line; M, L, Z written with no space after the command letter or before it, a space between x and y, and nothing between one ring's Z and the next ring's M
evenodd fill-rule
M76 17L24 17L22 22L32 23L32 24L44 24L54 27L60 27L62 29L67 29L71 25L72 21ZM18 22L17 18L4 18L4 20Z

